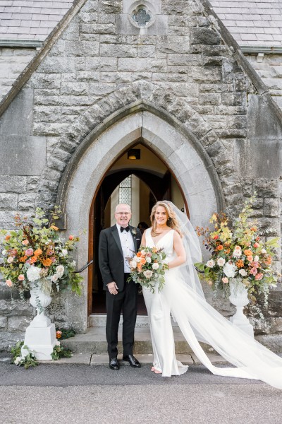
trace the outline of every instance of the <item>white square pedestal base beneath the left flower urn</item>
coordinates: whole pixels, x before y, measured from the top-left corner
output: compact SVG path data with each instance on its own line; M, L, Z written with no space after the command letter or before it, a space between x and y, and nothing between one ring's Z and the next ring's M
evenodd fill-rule
M24 345L35 352L38 360L51 360L51 353L56 345L55 324L40 327L34 324L32 321L25 331Z

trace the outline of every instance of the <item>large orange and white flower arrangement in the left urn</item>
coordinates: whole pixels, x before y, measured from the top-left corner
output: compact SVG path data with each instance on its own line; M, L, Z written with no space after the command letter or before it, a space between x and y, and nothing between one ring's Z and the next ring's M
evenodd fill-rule
M39 280L46 293L54 288L81 293L82 277L75 273L75 261L69 256L79 238L69 235L66 242L61 240L53 222L58 213L55 208L48 220L37 208L30 219L16 215L16 230L0 230L0 271L6 285L17 288L21 298Z

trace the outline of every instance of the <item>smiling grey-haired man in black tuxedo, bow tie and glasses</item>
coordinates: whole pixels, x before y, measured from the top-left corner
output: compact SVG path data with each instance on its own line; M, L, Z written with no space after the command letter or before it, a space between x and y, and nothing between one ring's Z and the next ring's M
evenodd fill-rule
M118 324L123 311L123 360L131 367L140 368L133 356L134 329L137 316L137 284L129 282L130 267L126 257L133 257L140 247L141 233L128 225L130 206L116 206L116 224L102 230L99 238L99 267L106 290L106 341L108 342L109 367L119 370Z

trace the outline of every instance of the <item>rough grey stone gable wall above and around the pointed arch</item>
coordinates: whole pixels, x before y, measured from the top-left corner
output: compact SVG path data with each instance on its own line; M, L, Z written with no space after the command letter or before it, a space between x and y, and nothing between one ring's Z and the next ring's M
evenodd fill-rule
M69 164L78 167L85 154L87 137L97 131L92 139L97 143L99 128L112 122L109 117L113 120L126 107L133 113L130 105L144 101L171 114L200 143L231 216L256 191L262 236L280 235L281 162L276 153L282 130L269 100L238 64L234 49L224 45L200 1L157 1L159 23L147 33L130 23L124 7L132 3L86 1L4 112L1 227L11 227L18 209L30 213L35 204L48 208L56 203ZM192 172L189 165L189 157L183 157L183 170ZM80 312L63 307L60 319L68 320L71 311L81 329ZM3 323L8 329L7 320Z

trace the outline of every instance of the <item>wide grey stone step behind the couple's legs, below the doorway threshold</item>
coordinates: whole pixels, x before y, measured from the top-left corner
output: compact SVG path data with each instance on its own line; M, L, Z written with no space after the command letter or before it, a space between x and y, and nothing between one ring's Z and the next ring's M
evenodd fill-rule
M178 327L173 328L176 354L189 355L192 349L185 341ZM118 351L122 352L122 329L118 331ZM92 355L104 355L107 352L106 334L103 327L92 327L87 329L86 334L76 334L75 337L63 340L62 346L70 348L75 354L90 353ZM201 343L206 352L212 352L209 345ZM137 327L135 329L134 353L140 355L152 355L152 342L148 327Z

